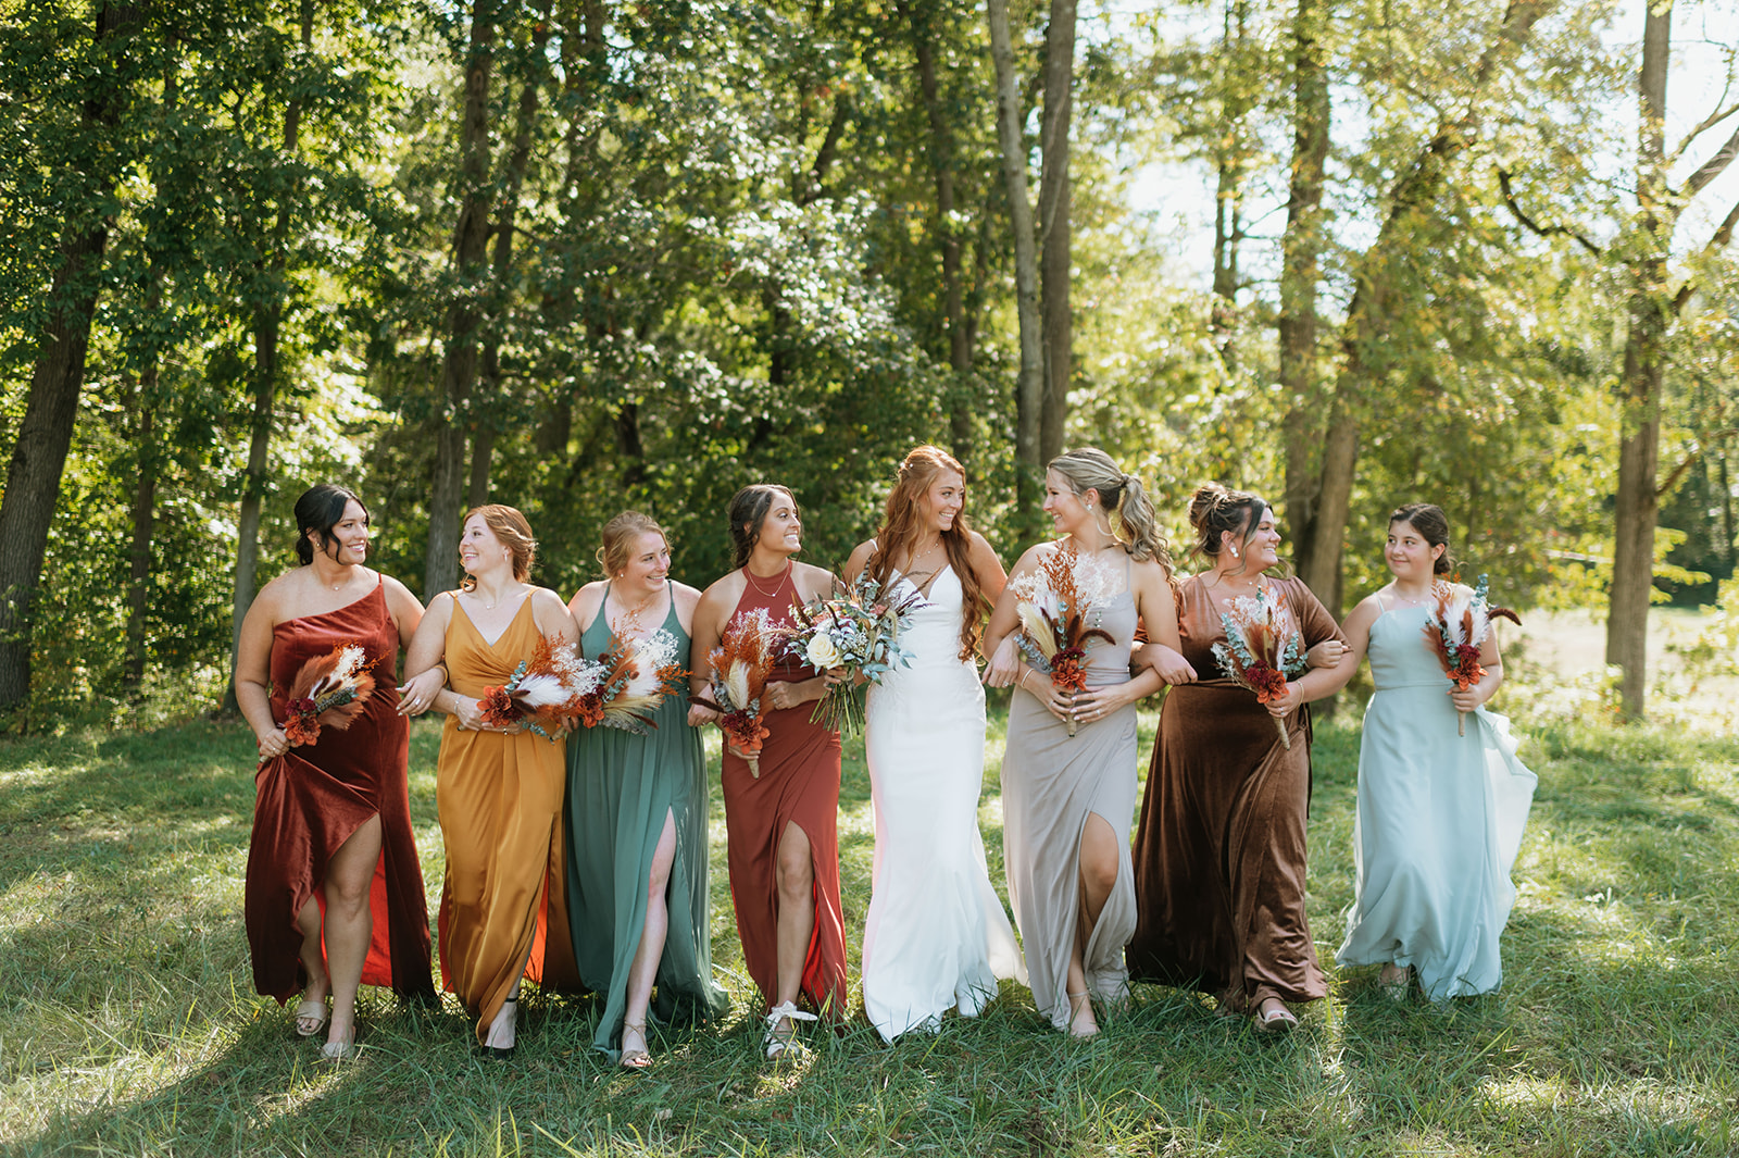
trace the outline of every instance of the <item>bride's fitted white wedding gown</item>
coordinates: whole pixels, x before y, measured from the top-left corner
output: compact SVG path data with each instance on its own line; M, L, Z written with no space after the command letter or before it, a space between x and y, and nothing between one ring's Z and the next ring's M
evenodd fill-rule
M998 977L1026 982L977 828L984 689L960 659L962 600L960 579L944 569L903 638L911 666L871 685L866 708L875 869L863 988L887 1042L934 1031L948 1008L976 1015Z

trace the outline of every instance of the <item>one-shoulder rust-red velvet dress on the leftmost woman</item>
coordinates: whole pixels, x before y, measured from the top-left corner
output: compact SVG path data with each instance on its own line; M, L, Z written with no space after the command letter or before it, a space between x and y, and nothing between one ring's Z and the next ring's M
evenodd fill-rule
M332 855L379 815L381 861L369 888L374 935L362 982L433 1002L430 916L405 786L410 725L396 711L398 626L379 582L355 603L273 628L271 716L289 715L285 697L304 662L348 643L360 643L372 662L374 692L362 715L348 730L322 729L318 741L268 760L254 777L243 894L254 988L283 1003L308 982L296 915L322 895Z

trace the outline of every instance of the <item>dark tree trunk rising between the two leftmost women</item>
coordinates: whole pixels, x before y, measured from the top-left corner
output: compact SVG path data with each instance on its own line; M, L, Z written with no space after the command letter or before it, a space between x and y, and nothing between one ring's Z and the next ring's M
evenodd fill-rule
M494 57L496 3L473 0L471 38L464 59L464 120L459 134L459 223L454 228L454 299L447 308L447 355L442 365L443 414L435 433L430 480L430 537L423 562L423 602L459 584L459 515L464 473L464 428L476 384L480 296L489 271L489 75Z

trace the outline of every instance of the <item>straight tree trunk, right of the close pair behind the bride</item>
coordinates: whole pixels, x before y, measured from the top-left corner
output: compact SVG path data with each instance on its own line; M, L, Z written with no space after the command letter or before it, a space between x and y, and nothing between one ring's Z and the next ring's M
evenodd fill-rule
M1040 464L1063 454L1069 414L1075 329L1069 315L1069 125L1075 113L1075 0L1050 0L1045 30L1045 113L1040 129L1038 233L1043 249L1040 297L1045 316L1045 398L1038 424Z

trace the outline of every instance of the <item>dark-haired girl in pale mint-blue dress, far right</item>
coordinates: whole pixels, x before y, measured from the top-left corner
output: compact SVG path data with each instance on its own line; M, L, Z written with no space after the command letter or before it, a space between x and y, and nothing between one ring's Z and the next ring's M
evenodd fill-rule
M1370 654L1376 694L1358 742L1355 899L1334 960L1381 963L1377 984L1395 1000L1417 968L1419 989L1447 1002L1502 982L1497 939L1536 779L1516 760L1509 722L1483 708L1504 680L1496 633L1480 645L1485 676L1461 692L1424 638L1454 569L1443 511L1410 502L1389 515L1383 558L1395 579L1343 624L1351 666Z

